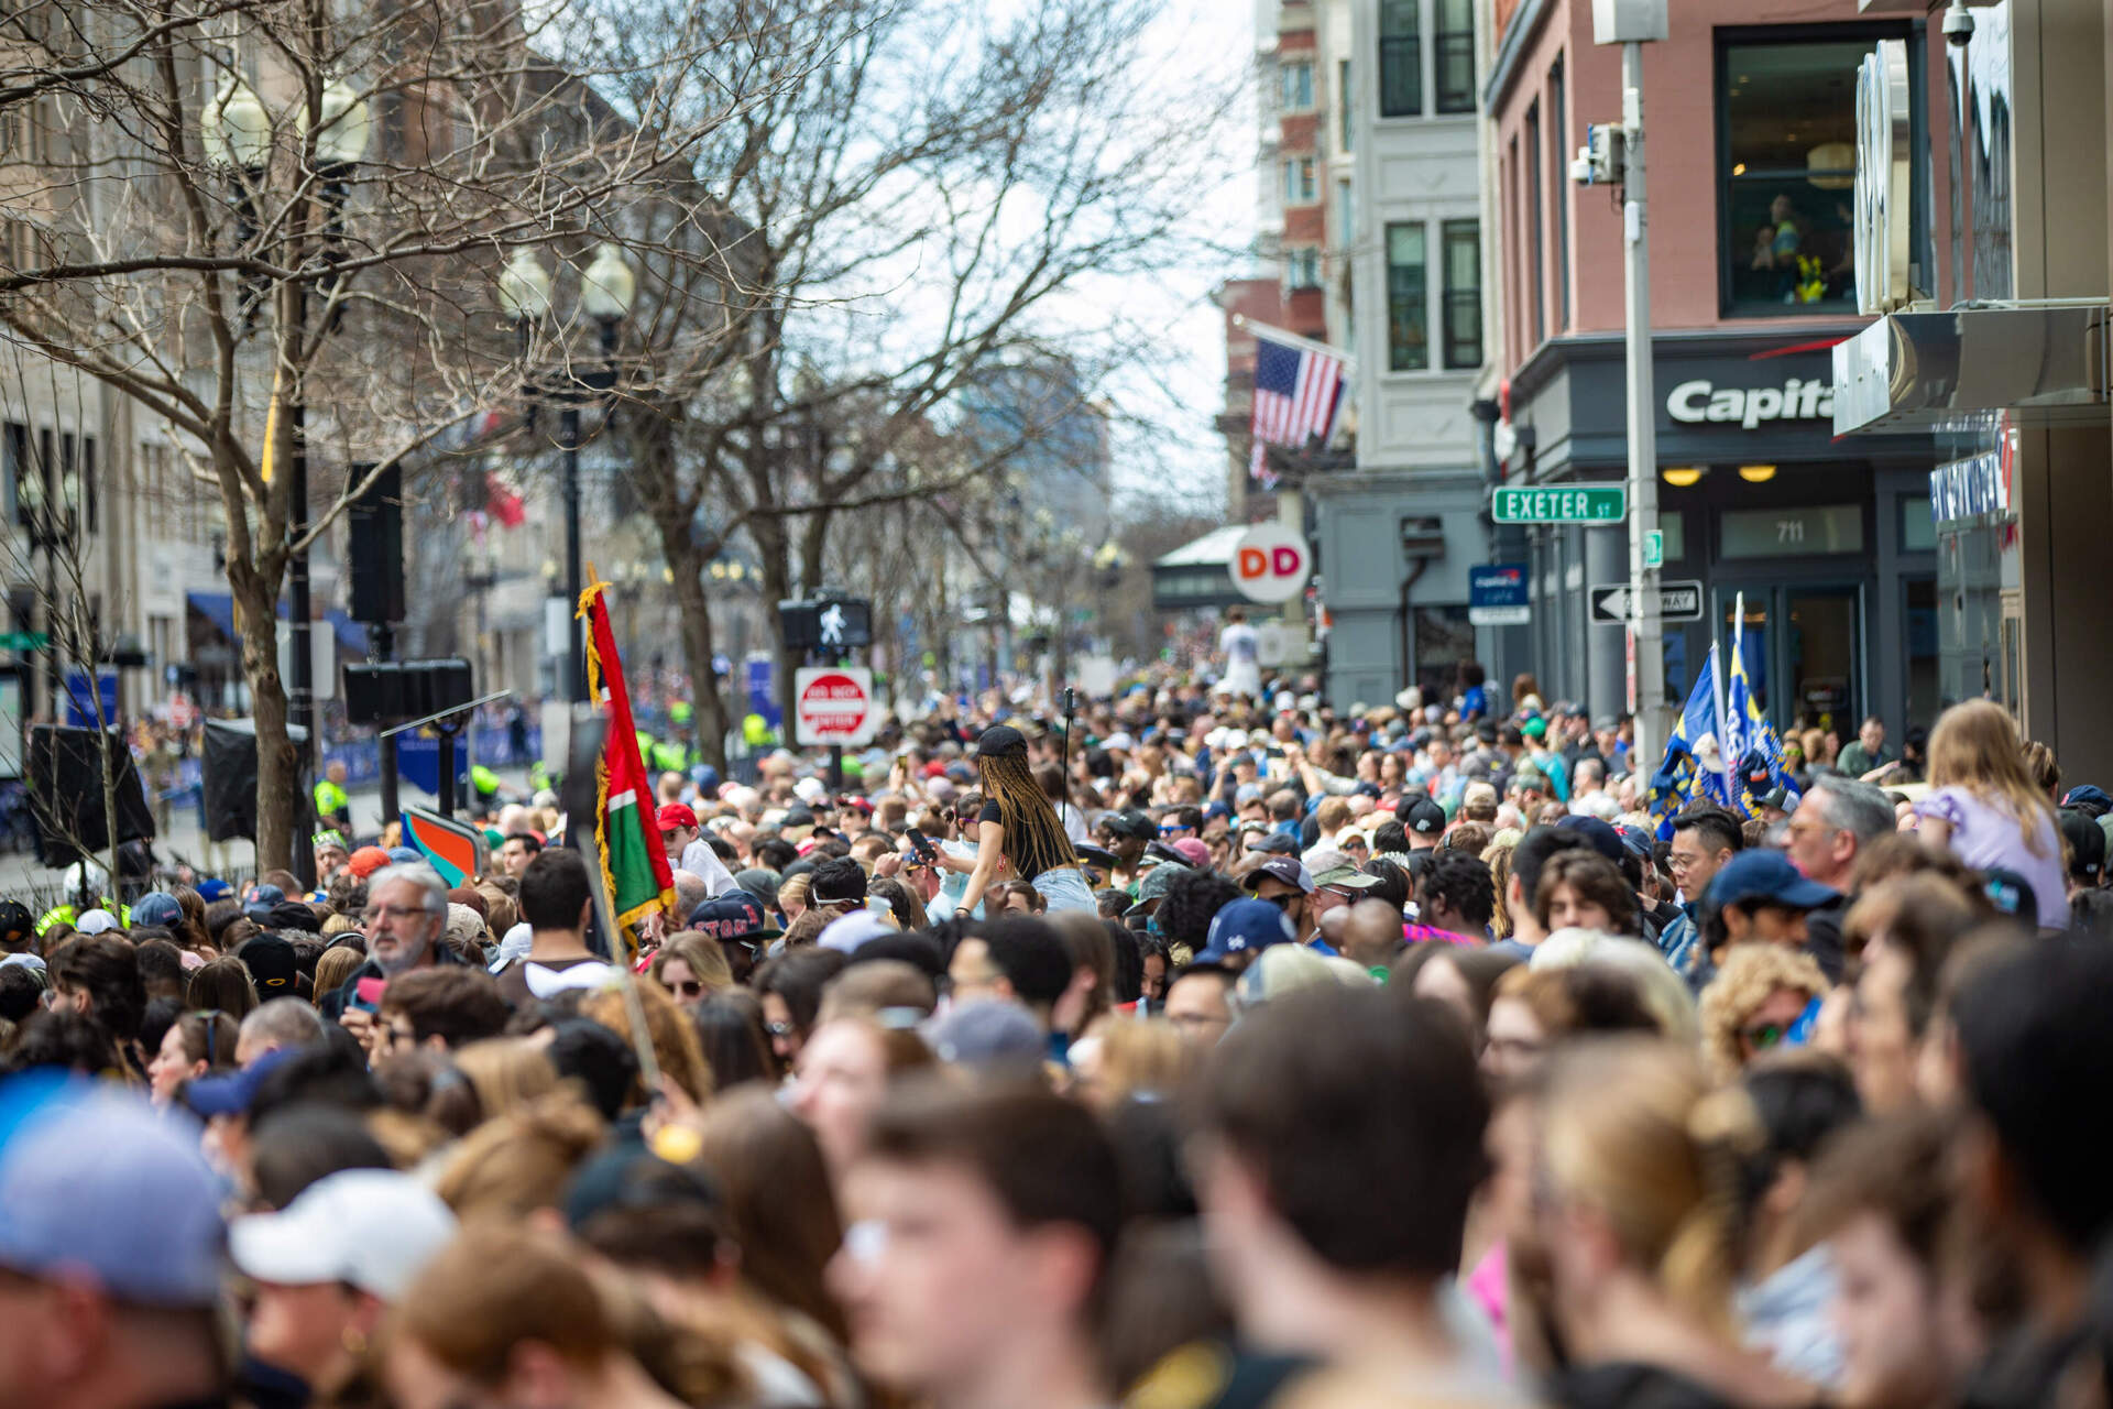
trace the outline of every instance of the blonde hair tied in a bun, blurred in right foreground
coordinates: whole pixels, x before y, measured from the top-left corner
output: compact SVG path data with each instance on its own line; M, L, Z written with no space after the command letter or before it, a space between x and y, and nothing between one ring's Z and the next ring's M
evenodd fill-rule
M1764 1143L1754 1103L1712 1090L1695 1052L1669 1041L1578 1041L1549 1071L1540 1143L1557 1194L1595 1208L1633 1270L1731 1335L1739 1162Z

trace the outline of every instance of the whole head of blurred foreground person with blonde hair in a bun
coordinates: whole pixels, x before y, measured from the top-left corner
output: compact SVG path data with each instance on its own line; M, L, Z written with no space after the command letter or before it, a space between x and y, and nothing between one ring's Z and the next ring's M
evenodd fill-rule
M1693 1052L1642 1037L1574 1044L1540 1098L1534 1253L1555 1329L1627 1286L1728 1333L1741 1265L1739 1158L1764 1143L1752 1098Z

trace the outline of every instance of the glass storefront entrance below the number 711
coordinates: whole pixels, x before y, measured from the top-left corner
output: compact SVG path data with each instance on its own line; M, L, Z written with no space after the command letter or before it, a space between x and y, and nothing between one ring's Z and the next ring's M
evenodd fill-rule
M1714 621L1726 651L1741 594L1745 676L1775 727L1851 737L1866 699L1862 585L1716 583Z

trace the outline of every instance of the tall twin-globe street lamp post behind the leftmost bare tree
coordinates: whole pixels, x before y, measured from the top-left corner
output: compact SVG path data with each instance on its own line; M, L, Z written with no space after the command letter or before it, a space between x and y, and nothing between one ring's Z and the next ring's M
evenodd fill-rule
M368 152L368 133L372 120L368 116L368 106L357 91L344 78L332 78L323 84L317 95L319 120L315 125L315 161L313 171L321 186L321 201L325 207L323 215L323 260L336 264L338 245L344 239L344 203L351 199L351 177L359 158ZM201 142L205 146L207 158L220 165L237 167L235 190L237 190L237 237L247 243L256 237L256 192L262 188L268 165L270 165L270 114L258 101L258 95L249 91L243 82L228 82L205 112L199 114ZM308 108L302 104L294 118L294 127L302 137L302 161L306 161L308 150ZM296 232L300 222L296 222ZM336 292L336 279L325 283L328 294ZM245 300L243 317L256 317L258 298L251 294ZM289 289L292 308L287 317L294 325L294 340L306 338L308 330L308 285L296 279ZM338 315L332 311L332 327ZM287 444L289 444L289 465L287 465L287 541L298 543L287 562L287 613L289 623L289 646L292 646L292 680L287 682L287 714L296 731L300 731L300 741L294 746L298 765L296 775L302 779L302 801L296 818L311 818L315 807L315 796L308 792L315 779L315 758L317 758L317 720L315 720L315 646L313 646L313 600L308 591L308 545L302 543L308 534L308 395L304 384L306 368L298 370L292 380L292 397L287 403ZM313 830L313 828L302 828ZM315 849L308 845L294 845L294 875L302 885L315 885Z

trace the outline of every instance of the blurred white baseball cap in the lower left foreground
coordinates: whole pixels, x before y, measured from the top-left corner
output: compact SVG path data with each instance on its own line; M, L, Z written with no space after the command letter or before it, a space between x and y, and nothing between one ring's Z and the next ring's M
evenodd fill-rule
M228 1257L260 1282L351 1282L393 1303L452 1240L454 1213L410 1175L340 1170L279 1213L235 1219Z

